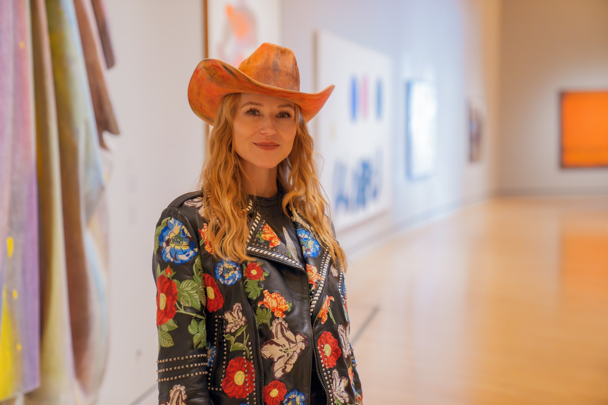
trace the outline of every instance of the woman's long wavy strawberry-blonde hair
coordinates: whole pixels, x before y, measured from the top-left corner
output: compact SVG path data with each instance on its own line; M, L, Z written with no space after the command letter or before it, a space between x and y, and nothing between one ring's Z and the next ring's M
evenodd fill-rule
M249 199L241 180L241 158L232 145L232 123L239 100L240 93L232 93L224 96L219 104L199 177L204 215L209 220L207 240L216 257L235 262L255 260L247 255L249 223L245 208ZM313 137L297 104L295 120L297 130L293 148L277 168L278 181L286 191L282 200L283 212L289 217L289 207L295 219L307 223L317 240L328 247L334 264L345 271L344 250L337 243L330 219L325 214L329 212L329 205L317 177Z

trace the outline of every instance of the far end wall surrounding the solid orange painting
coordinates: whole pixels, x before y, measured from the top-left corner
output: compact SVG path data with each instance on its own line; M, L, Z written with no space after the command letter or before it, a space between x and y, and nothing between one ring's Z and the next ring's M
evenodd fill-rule
M559 168L559 92L608 89L608 1L502 2L499 191L608 192L608 168Z

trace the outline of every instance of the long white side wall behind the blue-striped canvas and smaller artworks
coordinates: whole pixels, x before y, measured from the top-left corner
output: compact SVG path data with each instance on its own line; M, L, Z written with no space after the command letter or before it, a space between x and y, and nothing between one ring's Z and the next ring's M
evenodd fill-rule
M392 106L395 145L395 209L339 239L354 253L361 242L406 225L484 199L493 188L491 145L496 137L498 0L310 0L284 3L284 41L300 67L300 89L313 88L313 34L316 29L350 39L389 55L395 64ZM405 83L409 78L437 82L439 151L434 177L411 182L405 166ZM325 86L329 83L323 83ZM482 162L469 165L466 100L486 105ZM311 121L311 128L314 124ZM361 230L365 228L365 233Z

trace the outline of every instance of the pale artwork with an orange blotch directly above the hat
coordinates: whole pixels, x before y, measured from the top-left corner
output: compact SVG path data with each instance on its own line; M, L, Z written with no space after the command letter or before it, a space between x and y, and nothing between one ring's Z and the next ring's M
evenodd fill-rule
M280 44L279 0L206 0L207 58L238 67L265 42Z

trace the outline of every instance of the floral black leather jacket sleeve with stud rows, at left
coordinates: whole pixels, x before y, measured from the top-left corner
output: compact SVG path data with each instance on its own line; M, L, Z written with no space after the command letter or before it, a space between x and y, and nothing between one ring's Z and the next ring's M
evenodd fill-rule
M208 405L206 291L196 226L167 207L156 223L152 271L156 281L159 405Z

